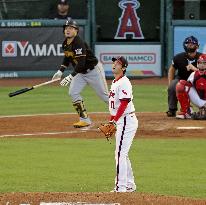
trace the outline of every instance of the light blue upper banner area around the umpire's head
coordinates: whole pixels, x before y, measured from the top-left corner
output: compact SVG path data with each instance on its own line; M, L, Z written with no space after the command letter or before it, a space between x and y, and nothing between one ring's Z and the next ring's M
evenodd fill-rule
M206 27L202 26L174 26L174 55L184 52L183 41L188 36L198 39L199 52L206 53Z

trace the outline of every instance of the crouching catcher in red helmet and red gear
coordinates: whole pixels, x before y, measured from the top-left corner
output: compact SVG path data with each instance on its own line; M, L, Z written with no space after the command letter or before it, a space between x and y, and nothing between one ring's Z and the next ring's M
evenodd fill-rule
M198 70L191 73L188 80L180 80L176 86L177 98L180 102L178 119L206 120L206 54L202 54L197 62ZM192 113L190 102L199 108Z

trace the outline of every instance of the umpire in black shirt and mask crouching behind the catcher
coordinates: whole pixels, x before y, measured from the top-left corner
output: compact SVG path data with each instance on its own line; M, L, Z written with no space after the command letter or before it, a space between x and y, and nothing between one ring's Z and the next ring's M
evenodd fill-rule
M168 71L168 117L175 117L177 112L176 84L179 80L187 80L193 71L197 70L197 52L199 43L194 36L187 37L183 42L185 52L174 56Z

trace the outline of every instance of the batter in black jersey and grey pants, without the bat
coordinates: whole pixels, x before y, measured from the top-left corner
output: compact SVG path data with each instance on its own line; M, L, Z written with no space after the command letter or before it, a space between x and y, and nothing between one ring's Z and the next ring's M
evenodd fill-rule
M81 128L91 125L91 120L80 95L83 88L89 84L103 101L108 103L109 99L102 64L98 62L87 43L79 37L78 31L79 26L76 21L72 19L66 21L63 26L65 40L62 44L64 60L52 79L61 78L70 63L74 67L73 72L65 77L60 84L62 86L70 85L69 95L79 115L79 121L74 123L74 127Z

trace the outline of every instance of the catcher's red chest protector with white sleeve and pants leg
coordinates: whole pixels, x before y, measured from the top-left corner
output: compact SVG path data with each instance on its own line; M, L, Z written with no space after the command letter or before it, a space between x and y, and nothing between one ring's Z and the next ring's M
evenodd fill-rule
M188 80L193 86L189 89L190 101L198 108L206 104L206 75L200 75L199 71L191 73Z

